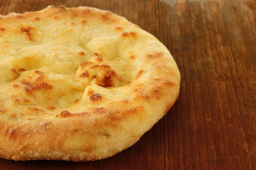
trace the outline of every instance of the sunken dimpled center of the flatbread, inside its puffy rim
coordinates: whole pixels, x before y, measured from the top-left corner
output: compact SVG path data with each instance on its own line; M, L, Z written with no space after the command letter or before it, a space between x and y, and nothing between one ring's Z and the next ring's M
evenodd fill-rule
M0 29L0 111L4 113L68 110L83 97L91 102L100 95L88 86L124 87L139 72L129 64L135 56L122 50L137 38L135 32L115 24L98 26L93 20L66 22L61 16L31 20L33 24L20 20Z

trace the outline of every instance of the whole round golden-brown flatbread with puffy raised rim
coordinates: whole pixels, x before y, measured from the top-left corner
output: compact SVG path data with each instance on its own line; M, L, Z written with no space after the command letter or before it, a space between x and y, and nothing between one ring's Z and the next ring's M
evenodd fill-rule
M0 60L4 159L110 157L137 142L180 90L159 40L91 7L1 15Z

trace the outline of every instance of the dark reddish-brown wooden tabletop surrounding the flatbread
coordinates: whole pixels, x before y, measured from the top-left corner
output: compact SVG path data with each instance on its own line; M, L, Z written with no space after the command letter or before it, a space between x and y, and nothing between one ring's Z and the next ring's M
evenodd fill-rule
M1 170L256 169L256 0L0 0L0 14L49 4L110 10L155 35L180 68L180 96L139 142L113 157L0 159Z

